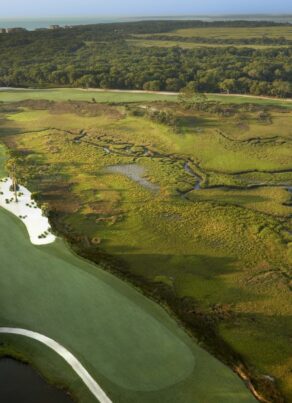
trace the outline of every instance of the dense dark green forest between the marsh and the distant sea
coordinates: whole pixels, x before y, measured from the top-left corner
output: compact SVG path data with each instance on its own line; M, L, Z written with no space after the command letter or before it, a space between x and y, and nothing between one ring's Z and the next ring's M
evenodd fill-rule
M196 24L199 22L144 21L1 34L0 86L176 92L189 85L200 92L292 95L292 47L143 48L127 42L133 33L168 32ZM222 26L223 22L216 24ZM244 24L248 28L264 23L238 22L238 26Z

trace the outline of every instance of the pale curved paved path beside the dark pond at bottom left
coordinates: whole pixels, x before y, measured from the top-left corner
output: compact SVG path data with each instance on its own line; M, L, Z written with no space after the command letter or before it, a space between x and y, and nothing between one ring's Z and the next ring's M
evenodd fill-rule
M50 339L42 334L32 332L26 329L17 329L13 327L0 327L0 333L2 334L17 334L30 339L40 341L45 344L57 354L59 354L64 360L73 368L76 374L82 379L90 392L96 397L100 403L112 403L110 398L101 389L101 387L95 382L89 372L83 367L83 365L70 353L65 347L57 343L55 340Z

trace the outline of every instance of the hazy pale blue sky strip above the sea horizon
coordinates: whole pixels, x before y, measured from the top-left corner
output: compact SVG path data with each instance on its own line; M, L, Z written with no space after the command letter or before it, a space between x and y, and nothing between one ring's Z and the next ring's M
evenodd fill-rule
M2 4L1 4L2 3ZM291 0L0 0L2 17L292 13Z

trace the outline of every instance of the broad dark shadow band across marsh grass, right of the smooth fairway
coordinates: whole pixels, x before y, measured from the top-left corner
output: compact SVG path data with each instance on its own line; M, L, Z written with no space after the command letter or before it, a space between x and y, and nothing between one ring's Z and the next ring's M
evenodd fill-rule
M141 249L143 245L141 246ZM96 254L92 250L90 254ZM216 303L233 304L237 301L260 301L264 297L252 292L248 286L239 285L241 275L238 262L231 257L201 254L153 253L146 254L134 246L118 245L108 247L107 256L117 271L126 277L139 278L168 288L176 298L191 298L208 305ZM94 259L96 261L96 259ZM206 300L204 300L206 298Z

